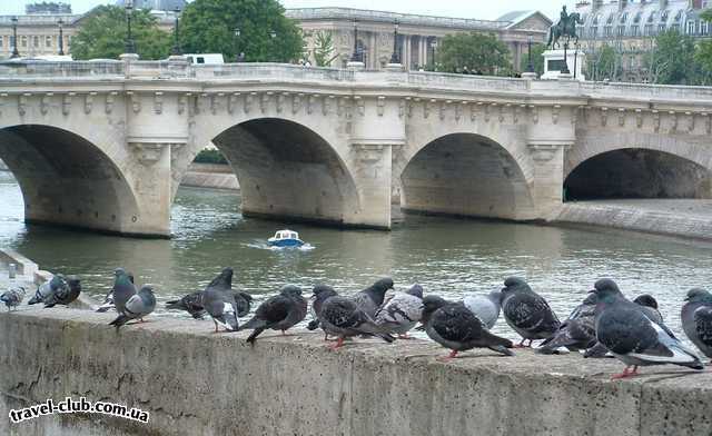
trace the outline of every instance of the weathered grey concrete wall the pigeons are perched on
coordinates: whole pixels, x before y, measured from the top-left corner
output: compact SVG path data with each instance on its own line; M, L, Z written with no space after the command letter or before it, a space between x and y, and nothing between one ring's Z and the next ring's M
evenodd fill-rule
M42 417L3 435L709 435L712 374L663 368L610 382L612 360L467 353L449 364L422 340L319 334L214 335L209 321L157 319L116 333L112 315L0 314L0 414L87 396L150 412L148 425Z

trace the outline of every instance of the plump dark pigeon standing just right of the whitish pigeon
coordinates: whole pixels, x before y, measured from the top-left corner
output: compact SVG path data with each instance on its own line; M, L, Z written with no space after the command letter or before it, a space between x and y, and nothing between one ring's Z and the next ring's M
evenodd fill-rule
M502 311L510 327L522 336L518 347L524 346L527 339L527 347L531 347L534 339L546 339L561 326L546 300L518 277L510 277L504 281Z

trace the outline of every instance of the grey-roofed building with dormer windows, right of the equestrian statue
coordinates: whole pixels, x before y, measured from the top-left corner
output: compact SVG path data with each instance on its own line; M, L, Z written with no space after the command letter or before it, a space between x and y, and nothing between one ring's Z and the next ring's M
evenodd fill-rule
M712 6L705 0L586 0L576 4L583 19L578 26L580 47L589 62L595 62L604 46L621 54L624 81L645 82L651 79L645 53L654 48L655 37L676 30L695 39L710 38L712 24L700 18Z

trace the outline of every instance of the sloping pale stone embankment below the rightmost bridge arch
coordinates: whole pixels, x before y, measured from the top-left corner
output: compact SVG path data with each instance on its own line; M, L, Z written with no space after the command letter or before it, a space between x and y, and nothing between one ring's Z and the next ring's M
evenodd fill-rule
M564 204L551 221L712 240L710 200L611 200Z

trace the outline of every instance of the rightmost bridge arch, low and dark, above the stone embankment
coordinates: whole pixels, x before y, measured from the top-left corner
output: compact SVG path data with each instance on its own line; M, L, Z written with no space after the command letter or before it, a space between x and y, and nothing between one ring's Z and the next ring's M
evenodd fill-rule
M701 143L652 135L584 136L566 155L566 199L712 198Z

